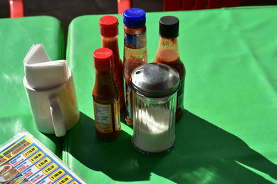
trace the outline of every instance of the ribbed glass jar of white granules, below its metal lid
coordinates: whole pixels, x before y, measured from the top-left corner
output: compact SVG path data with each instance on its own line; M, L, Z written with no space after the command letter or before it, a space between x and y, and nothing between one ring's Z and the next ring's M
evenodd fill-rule
M175 143L177 92L149 98L133 91L134 147L144 153L170 151Z

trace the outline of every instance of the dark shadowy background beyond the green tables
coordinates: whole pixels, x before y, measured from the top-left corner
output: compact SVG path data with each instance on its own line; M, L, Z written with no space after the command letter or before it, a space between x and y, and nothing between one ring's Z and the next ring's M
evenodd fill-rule
M117 0L23 0L24 16L51 15L60 19L65 39L69 23L84 14L116 14ZM232 1L232 0L230 0ZM277 5L277 0L242 0L242 6ZM163 11L163 0L133 0L133 8ZM8 0L0 0L0 18L10 17Z

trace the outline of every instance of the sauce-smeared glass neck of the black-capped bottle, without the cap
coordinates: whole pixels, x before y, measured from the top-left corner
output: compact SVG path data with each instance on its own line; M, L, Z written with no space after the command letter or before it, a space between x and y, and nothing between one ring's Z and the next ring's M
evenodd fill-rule
M175 62L179 60L177 37L160 38L156 60L160 62Z

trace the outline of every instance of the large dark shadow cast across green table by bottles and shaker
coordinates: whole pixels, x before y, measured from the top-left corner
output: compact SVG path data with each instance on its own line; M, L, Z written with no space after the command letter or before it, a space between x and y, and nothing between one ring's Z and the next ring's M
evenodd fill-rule
M163 156L140 154L124 131L115 141L99 141L94 120L85 114L77 126L70 133L67 152L115 181L148 181L154 173L176 183L271 183L239 163L277 178L274 163L188 111L177 123L175 148Z

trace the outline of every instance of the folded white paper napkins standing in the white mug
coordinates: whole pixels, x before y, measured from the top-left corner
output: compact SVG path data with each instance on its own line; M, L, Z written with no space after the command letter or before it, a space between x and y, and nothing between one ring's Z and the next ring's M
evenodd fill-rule
M66 60L51 61L44 45L32 45L24 58L26 80L30 88L47 90L64 83L68 78Z

